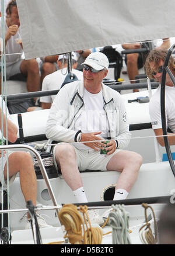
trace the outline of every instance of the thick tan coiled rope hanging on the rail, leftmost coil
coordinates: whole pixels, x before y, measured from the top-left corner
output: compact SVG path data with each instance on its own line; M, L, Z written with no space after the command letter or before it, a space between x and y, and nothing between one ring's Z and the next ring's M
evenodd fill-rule
M99 227L92 227L88 217L88 206L79 206L79 211L75 205L64 205L58 217L61 224L64 225L66 234L64 238L68 238L71 244L101 244L103 232ZM88 222L87 220L88 219ZM89 227L88 227L89 223ZM83 226L83 234L82 234ZM86 229L85 229L86 226Z

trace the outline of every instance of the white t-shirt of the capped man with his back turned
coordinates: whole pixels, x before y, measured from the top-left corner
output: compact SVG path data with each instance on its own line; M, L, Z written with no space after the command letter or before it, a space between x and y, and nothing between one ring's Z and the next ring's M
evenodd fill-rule
M52 91L61 88L67 74L67 68L57 70L50 75L46 75L43 79L42 91ZM72 72L76 75L79 80L83 80L83 72L72 69ZM52 103L56 95L43 96L40 98L40 102Z

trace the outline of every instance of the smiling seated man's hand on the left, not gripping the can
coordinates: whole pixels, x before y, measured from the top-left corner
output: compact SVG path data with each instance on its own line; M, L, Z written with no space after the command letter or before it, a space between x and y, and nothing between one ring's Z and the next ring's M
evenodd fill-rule
M82 141L95 141L95 142L89 142L89 143L83 143L86 146L92 148L93 150L99 151L100 149L103 149L104 147L106 147L106 145L99 141L99 140L103 140L101 137L96 136L98 134L100 134L101 132L94 132L94 133L82 133Z

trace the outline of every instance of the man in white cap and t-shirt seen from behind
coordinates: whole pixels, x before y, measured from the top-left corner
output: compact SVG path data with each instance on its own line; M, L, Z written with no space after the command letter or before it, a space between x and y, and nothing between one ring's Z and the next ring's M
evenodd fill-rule
M67 75L67 58L66 54L60 55L57 60L58 70L50 75L46 75L42 84L42 91L51 91L61 88L64 79ZM75 70L77 66L77 57L74 51L72 51L72 73L76 75L78 79L83 79L83 72ZM43 109L50 109L56 95L42 96L40 98L41 107Z

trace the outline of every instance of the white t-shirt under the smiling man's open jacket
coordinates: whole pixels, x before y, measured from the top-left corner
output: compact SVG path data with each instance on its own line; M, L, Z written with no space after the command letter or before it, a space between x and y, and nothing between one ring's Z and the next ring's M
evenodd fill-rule
M75 120L74 130L81 130L82 133L101 132L100 137L108 136L108 120L106 112L103 109L104 99L102 90L98 94L91 94L86 89L83 94L85 110ZM75 144L79 149L91 148L82 143Z

